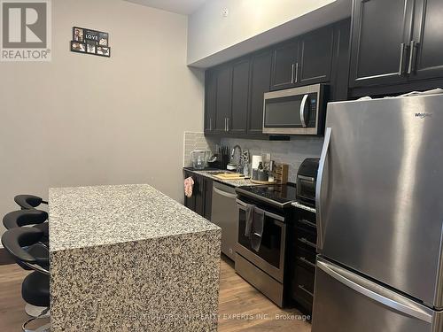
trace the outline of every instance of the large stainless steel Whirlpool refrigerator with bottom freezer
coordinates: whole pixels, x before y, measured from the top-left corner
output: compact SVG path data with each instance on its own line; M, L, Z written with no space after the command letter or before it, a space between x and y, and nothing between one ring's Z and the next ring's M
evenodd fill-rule
M312 332L443 331L443 95L328 105Z

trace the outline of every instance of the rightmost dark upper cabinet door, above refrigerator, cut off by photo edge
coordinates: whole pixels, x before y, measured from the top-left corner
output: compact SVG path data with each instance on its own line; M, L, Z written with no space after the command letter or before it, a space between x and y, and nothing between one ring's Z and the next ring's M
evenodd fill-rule
M443 77L443 1L417 0L409 79Z

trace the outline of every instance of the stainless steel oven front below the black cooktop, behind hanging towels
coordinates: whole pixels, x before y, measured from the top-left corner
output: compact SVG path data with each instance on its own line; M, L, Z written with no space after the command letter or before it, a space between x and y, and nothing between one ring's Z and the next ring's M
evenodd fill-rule
M259 251L254 251L245 236L246 203L237 198L238 234L236 271L269 297L276 305L284 304L284 257L286 224L283 215L265 210Z

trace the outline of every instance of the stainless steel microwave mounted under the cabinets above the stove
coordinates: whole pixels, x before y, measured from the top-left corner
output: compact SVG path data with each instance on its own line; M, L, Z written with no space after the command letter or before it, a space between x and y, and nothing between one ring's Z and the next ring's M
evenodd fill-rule
M265 93L263 133L323 135L326 88L315 84Z

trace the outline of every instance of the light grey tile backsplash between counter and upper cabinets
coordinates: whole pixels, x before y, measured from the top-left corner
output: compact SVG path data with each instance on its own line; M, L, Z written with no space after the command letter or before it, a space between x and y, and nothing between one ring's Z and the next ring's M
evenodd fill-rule
M305 158L319 158L323 147L323 137L291 137L291 141L260 141L238 138L222 138L221 145L240 145L249 150L251 156L270 153L271 159L289 165L289 181L297 180L297 172Z

